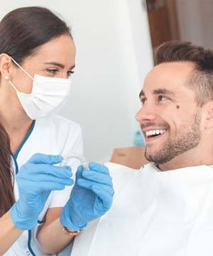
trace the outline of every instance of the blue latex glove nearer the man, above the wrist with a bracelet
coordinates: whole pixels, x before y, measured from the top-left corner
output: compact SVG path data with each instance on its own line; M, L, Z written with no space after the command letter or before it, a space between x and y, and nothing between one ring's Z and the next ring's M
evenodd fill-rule
M60 215L60 223L70 230L85 228L89 221L109 210L113 195L114 189L106 166L91 163L88 170L79 166L70 199Z

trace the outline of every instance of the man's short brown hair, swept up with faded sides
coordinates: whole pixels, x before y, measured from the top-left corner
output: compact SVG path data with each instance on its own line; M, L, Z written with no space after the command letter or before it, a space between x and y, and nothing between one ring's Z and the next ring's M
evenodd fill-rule
M195 72L187 87L195 91L197 104L202 106L213 100L213 52L190 42L169 41L155 50L155 64L189 61Z

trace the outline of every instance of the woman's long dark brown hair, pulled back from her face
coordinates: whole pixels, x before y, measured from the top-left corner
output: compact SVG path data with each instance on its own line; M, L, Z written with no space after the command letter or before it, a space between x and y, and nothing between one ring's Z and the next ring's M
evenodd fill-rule
M16 9L0 22L0 54L6 53L22 64L44 43L66 33L71 36L67 24L46 8ZM0 216L14 202L9 151L9 138L0 126Z

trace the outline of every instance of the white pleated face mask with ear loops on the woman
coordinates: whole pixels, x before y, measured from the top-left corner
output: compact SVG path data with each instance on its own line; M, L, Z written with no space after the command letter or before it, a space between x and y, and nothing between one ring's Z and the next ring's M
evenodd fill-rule
M13 60L13 62L16 63L16 60ZM21 65L18 63L16 65L32 78ZM35 75L32 79L33 88L31 93L18 91L13 82L9 80L11 86L16 90L18 99L28 117L39 119L40 117L47 117L58 112L65 105L70 95L71 79L48 78L42 75Z

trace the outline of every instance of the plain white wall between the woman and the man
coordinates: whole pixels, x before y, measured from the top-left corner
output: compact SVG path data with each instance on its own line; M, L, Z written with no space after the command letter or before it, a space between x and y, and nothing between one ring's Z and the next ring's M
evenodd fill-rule
M141 0L8 0L0 16L33 5L58 11L72 25L77 67L62 114L81 124L87 158L108 160L115 147L133 143L138 93L153 66Z

